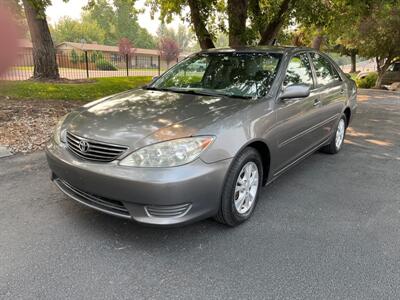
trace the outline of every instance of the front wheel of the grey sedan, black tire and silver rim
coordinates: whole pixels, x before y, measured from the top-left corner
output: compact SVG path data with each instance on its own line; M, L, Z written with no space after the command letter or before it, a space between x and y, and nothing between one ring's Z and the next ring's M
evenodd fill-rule
M250 218L262 184L262 161L257 150L246 148L232 163L215 219L236 226Z

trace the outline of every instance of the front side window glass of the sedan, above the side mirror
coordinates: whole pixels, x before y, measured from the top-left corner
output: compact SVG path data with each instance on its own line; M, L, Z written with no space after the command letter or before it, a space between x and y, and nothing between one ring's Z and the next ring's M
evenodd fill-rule
M297 54L290 59L283 85L286 87L300 83L310 87L314 84L310 61L305 53Z

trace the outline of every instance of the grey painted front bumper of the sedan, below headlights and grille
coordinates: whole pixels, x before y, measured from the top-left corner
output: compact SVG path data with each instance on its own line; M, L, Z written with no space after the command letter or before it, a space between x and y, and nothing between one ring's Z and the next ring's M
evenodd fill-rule
M105 213L152 225L216 215L231 159L171 168L133 168L82 160L64 146L46 151L52 180L70 198ZM125 209L125 211L124 211Z

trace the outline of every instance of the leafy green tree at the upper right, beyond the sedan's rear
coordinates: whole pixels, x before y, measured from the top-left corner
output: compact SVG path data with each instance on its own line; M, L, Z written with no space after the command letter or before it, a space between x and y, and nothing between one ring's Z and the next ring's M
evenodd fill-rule
M325 41L349 55L352 71L355 71L357 53L375 58L378 69L376 87L380 87L383 75L400 57L400 0L334 0L324 3L315 8L317 15L307 20L306 14L300 14L299 20L309 27L316 26L320 30L317 37L323 33Z

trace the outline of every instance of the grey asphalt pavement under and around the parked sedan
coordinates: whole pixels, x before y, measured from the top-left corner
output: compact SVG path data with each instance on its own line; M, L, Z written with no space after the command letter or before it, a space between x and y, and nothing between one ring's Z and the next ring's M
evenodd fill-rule
M1 159L0 298L399 299L400 94L361 92L347 138L234 229L142 227L68 200L43 153Z

